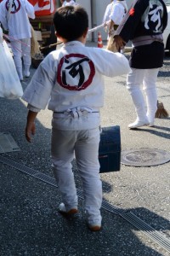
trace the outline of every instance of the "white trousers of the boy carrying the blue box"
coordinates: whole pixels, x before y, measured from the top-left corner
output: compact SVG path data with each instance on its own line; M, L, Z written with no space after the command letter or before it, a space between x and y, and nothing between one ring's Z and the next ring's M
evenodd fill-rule
M76 155L82 178L88 224L101 224L102 184L99 177L99 128L83 131L52 129L51 157L54 177L65 208L77 207L77 189L71 161Z

